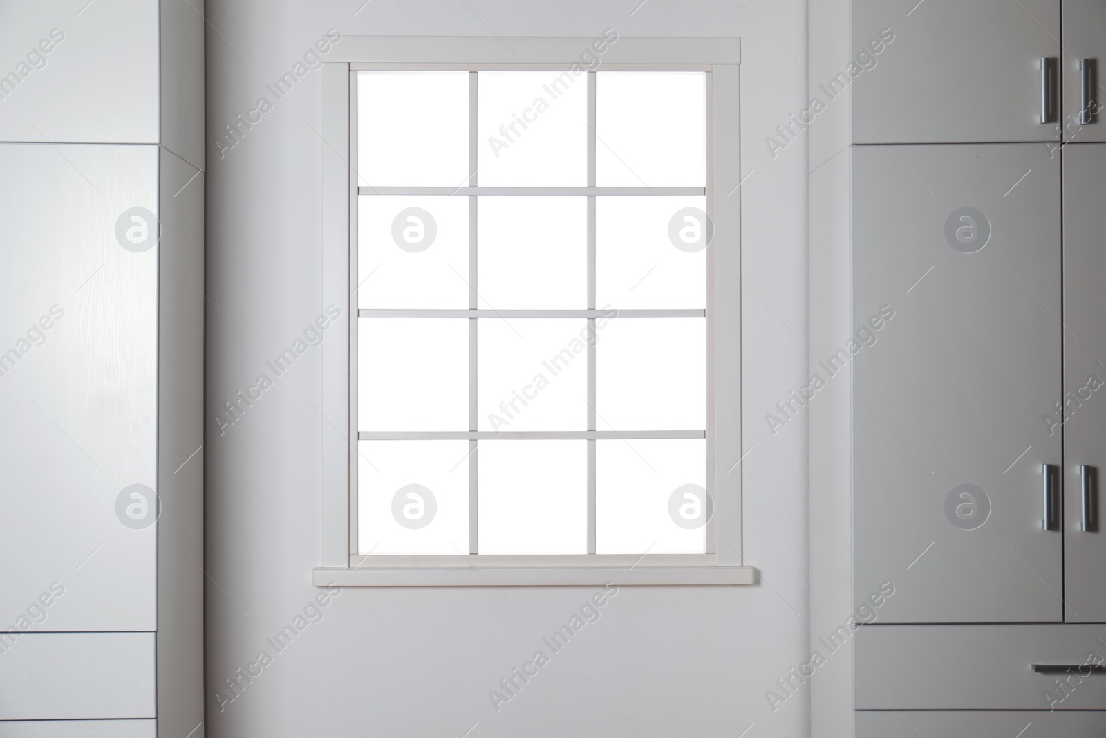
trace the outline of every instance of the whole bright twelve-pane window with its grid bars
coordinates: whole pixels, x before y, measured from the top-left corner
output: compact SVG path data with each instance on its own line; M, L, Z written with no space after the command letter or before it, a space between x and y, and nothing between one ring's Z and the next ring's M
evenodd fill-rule
M352 65L349 567L747 583L737 66L555 41Z

